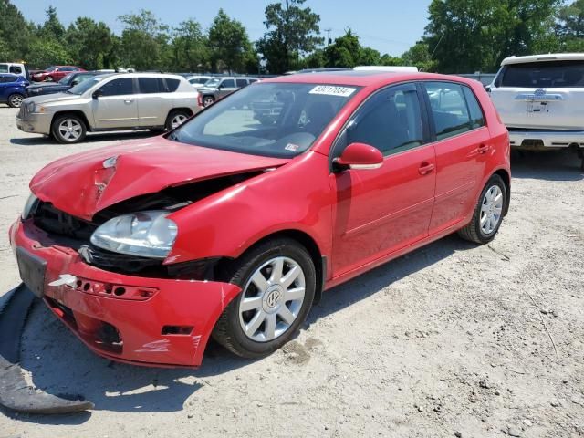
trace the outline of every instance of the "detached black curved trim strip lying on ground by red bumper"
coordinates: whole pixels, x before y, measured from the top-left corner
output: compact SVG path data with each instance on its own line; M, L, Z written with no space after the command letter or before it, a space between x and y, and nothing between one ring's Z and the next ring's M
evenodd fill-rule
M20 338L36 297L24 284L8 295L5 305L0 306L0 405L15 412L40 414L93 409L93 403L80 396L64 398L47 394L26 383L18 364Z

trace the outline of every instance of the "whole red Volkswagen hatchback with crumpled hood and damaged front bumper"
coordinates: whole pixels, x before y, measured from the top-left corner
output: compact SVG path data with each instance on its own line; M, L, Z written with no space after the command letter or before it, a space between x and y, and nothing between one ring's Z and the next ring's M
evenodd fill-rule
M253 119L272 101L278 117ZM250 85L161 137L82 152L30 183L20 275L90 349L198 366L290 339L323 290L507 213L509 139L480 83L336 72Z

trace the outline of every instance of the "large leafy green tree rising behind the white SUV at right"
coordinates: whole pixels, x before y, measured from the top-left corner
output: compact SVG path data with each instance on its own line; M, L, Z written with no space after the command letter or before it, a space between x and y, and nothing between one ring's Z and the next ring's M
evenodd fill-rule
M443 73L495 71L504 57L553 47L561 0L433 0L424 42Z

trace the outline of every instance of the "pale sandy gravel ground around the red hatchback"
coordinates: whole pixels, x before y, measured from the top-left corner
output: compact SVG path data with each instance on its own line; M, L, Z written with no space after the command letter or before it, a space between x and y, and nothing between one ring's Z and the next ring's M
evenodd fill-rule
M19 282L6 236L47 162L145 134L61 146L0 108L0 295ZM491 245L456 236L335 287L263 360L211 345L199 370L102 360L44 306L23 335L37 387L95 411L0 413L0 436L584 436L584 174L572 155L514 162Z

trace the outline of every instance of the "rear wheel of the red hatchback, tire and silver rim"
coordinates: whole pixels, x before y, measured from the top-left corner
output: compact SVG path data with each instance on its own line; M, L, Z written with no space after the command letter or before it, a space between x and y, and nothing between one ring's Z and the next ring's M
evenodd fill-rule
M499 175L493 175L479 196L471 222L458 235L475 244L492 241L503 222L507 196L505 183Z

